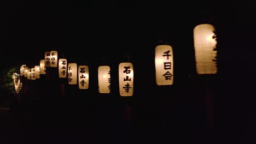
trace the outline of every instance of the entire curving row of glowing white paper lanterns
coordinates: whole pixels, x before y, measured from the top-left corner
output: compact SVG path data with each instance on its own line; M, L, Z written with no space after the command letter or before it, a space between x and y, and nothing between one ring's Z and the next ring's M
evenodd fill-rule
M211 24L201 24L194 28L194 48L196 57L197 74L217 73L217 37L215 28ZM40 78L46 74L46 67L57 67L57 51L45 52L45 58L40 60L40 65L28 68L22 65L20 74L28 80ZM173 51L170 45L155 47L155 72L157 85L173 84ZM80 89L89 87L89 67L76 63L67 63L67 59L59 59L59 77L68 78L69 85L79 85ZM78 77L78 79L77 79ZM100 93L110 93L110 67L98 67L98 87ZM132 63L119 64L119 91L121 96L133 95L133 65Z

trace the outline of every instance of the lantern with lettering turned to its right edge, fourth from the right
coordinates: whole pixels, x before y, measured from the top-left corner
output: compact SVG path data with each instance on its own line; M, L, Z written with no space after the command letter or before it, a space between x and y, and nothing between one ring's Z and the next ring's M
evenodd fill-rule
M98 92L110 93L110 67L107 65L98 67Z

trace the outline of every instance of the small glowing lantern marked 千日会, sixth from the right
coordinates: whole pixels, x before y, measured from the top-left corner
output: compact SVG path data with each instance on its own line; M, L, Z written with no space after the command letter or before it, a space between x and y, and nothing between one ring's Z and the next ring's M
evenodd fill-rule
M77 84L77 64L69 63L67 71L68 71L68 84L76 85Z

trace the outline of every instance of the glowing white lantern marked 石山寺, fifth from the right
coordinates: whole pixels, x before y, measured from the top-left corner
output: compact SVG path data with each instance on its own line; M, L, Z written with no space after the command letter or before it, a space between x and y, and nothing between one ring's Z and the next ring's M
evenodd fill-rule
M89 68L87 65L79 65L78 67L78 85L79 89L88 89L89 87Z

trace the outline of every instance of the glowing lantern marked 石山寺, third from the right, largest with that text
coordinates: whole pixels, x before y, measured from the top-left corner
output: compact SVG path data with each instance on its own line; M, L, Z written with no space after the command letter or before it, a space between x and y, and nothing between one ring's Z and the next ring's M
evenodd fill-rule
M133 65L132 63L119 64L119 93L123 97L133 95Z

